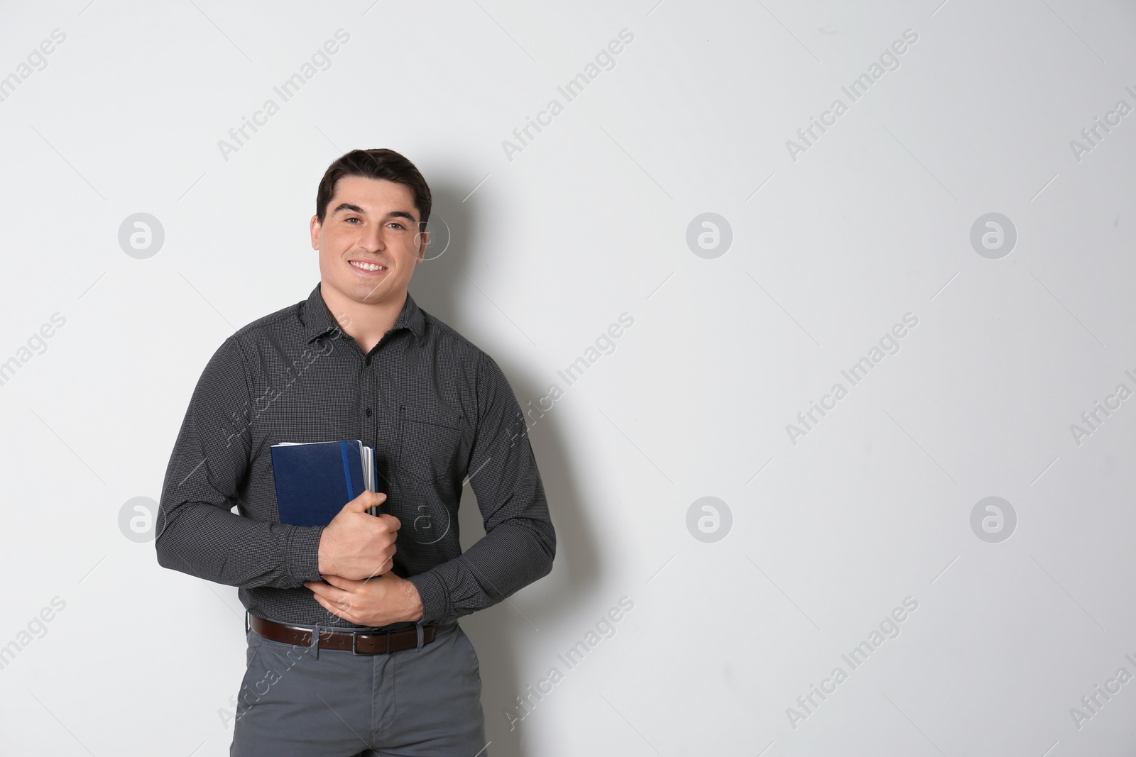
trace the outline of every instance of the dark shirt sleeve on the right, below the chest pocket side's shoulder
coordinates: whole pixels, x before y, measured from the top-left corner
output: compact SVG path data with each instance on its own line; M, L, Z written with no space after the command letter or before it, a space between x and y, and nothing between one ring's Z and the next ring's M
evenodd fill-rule
M557 537L525 418L504 373L485 354L477 412L469 483L485 536L458 557L410 577L427 624L490 607L552 570Z

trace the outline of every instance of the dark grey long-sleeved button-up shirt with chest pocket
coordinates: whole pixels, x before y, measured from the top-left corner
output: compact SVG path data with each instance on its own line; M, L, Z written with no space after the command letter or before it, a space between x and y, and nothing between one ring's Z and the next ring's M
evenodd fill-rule
M552 570L556 532L526 431L493 359L409 294L364 354L316 285L225 339L206 365L166 469L158 563L240 587L253 615L362 628L303 586L319 580L324 527L279 522L269 453L279 441L360 439L375 447L382 512L402 522L392 570L418 589L423 623L448 623ZM485 537L462 553L467 476Z

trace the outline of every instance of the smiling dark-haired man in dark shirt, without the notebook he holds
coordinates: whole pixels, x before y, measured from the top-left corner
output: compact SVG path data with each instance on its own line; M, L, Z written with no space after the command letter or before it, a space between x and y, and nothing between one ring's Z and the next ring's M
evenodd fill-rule
M546 575L556 533L504 375L407 292L429 211L399 153L333 162L311 219L319 284L225 339L190 399L154 545L164 567L240 587L233 755L488 754L456 621ZM375 447L382 494L326 527L281 523L270 446L339 439ZM462 554L467 477L485 536Z

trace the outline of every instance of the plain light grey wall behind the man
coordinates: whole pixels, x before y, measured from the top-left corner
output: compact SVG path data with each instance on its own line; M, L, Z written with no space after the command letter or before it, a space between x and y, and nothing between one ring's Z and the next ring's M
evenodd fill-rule
M486 754L1133 754L1134 31L1116 0L10 3L5 751L228 754L236 590L160 569L133 501L212 351L318 280L326 166L387 146L435 193L415 297L523 405L562 390L531 430L554 570L462 621ZM136 213L160 247L120 243Z

